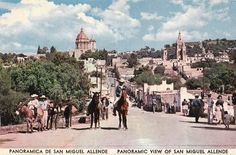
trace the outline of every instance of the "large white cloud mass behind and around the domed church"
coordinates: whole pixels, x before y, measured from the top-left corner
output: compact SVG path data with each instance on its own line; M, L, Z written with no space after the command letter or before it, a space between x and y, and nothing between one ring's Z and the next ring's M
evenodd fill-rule
M140 25L129 16L126 1L114 1L105 11L97 9L99 18L88 15L94 10L88 4L22 0L0 16L0 50L36 51L38 45L69 50L81 27L89 37L111 43L134 36Z

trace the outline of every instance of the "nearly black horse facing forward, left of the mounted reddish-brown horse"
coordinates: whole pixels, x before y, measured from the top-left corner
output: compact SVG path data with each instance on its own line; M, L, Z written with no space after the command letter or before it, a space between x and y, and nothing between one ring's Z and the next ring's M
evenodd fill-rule
M99 120L100 109L101 109L101 103L100 103L100 100L99 100L99 93L95 92L93 94L92 101L88 105L87 115L91 114L90 128L93 127L93 121L94 121L94 124L95 124L95 128L97 128L97 125L98 125L98 127L100 127L100 120Z

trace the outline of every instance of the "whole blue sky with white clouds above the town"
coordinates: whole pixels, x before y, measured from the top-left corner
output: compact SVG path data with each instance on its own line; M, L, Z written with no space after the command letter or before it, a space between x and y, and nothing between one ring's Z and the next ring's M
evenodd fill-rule
M69 51L81 28L117 51L236 39L235 15L236 0L0 0L0 52Z

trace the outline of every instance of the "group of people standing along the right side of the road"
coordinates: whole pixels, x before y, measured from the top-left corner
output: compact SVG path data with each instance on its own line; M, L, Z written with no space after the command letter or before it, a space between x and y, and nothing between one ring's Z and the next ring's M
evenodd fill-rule
M231 106L231 100L234 109L234 115L230 114L230 109L227 109ZM198 122L201 111L203 110L204 103L202 99L199 99L199 95L195 94L195 99L190 103L195 116L195 122ZM214 102L212 94L207 94L206 99L207 104L207 122L208 124L224 124L226 128L229 128L229 124L233 122L236 124L236 90L232 94L232 98L228 98L228 101L224 101L222 95L217 97L217 100ZM227 105L226 105L227 104ZM186 116L189 112L189 103L184 99L182 102L182 111Z

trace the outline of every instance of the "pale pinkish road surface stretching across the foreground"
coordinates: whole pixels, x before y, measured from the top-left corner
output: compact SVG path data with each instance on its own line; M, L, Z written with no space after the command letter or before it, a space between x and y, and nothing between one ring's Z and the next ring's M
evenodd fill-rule
M101 127L89 129L89 124L74 124L44 132L1 135L1 148L236 148L236 125L226 130L222 125L209 125L206 118L199 123L181 113L152 113L130 107L128 130L118 130L118 117L109 113Z

